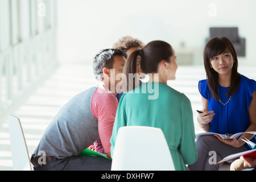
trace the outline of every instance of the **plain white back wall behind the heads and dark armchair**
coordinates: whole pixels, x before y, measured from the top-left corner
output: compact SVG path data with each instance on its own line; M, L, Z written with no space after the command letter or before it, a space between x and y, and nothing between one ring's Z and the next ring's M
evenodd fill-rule
M210 3L217 16L209 16ZM179 48L203 48L211 26L238 26L246 38L246 59L255 64L255 0L60 0L59 59L88 60L110 48L122 36L131 35L144 43L161 39ZM241 61L240 61L241 64Z

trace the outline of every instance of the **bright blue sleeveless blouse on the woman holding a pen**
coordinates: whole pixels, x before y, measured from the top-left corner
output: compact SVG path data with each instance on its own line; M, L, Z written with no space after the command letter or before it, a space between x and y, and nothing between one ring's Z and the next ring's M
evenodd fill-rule
M223 104L228 102L229 97L226 92L229 87L223 87L218 84L220 100ZM199 92L201 96L208 100L208 110L213 110L215 115L210 122L210 132L220 134L235 134L244 132L250 125L250 116L248 109L250 107L253 94L256 90L256 81L241 75L241 83L237 92L232 95L230 101L225 106L220 101L210 97L210 89L207 80L199 81ZM254 136L251 141L255 143ZM250 149L250 147L245 144Z

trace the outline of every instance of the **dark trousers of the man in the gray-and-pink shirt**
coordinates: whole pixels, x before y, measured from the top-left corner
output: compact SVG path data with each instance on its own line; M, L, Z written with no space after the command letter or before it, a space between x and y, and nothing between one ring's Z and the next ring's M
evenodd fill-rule
M35 171L110 171L112 160L101 156L72 156L51 160Z

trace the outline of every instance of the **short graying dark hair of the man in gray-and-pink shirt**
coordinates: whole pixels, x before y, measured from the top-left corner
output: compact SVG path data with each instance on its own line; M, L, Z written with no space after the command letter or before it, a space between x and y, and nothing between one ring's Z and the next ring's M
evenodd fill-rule
M103 49L93 59L93 71L97 80L102 80L102 69L113 68L114 56L126 56L120 49Z

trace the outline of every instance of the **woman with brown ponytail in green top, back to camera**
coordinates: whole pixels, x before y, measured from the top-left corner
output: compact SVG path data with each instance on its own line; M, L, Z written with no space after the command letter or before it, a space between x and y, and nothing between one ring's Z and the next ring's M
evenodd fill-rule
M197 160L197 148L191 103L183 93L167 85L167 80L175 80L177 64L174 49L166 42L153 41L133 52L124 69L127 80L129 73L135 73L133 68L138 55L141 56L142 72L150 75L150 81L121 97L110 139L111 154L119 127L158 127L166 137L175 169L187 170L185 164L193 164ZM145 148L145 152L150 152L150 148Z

